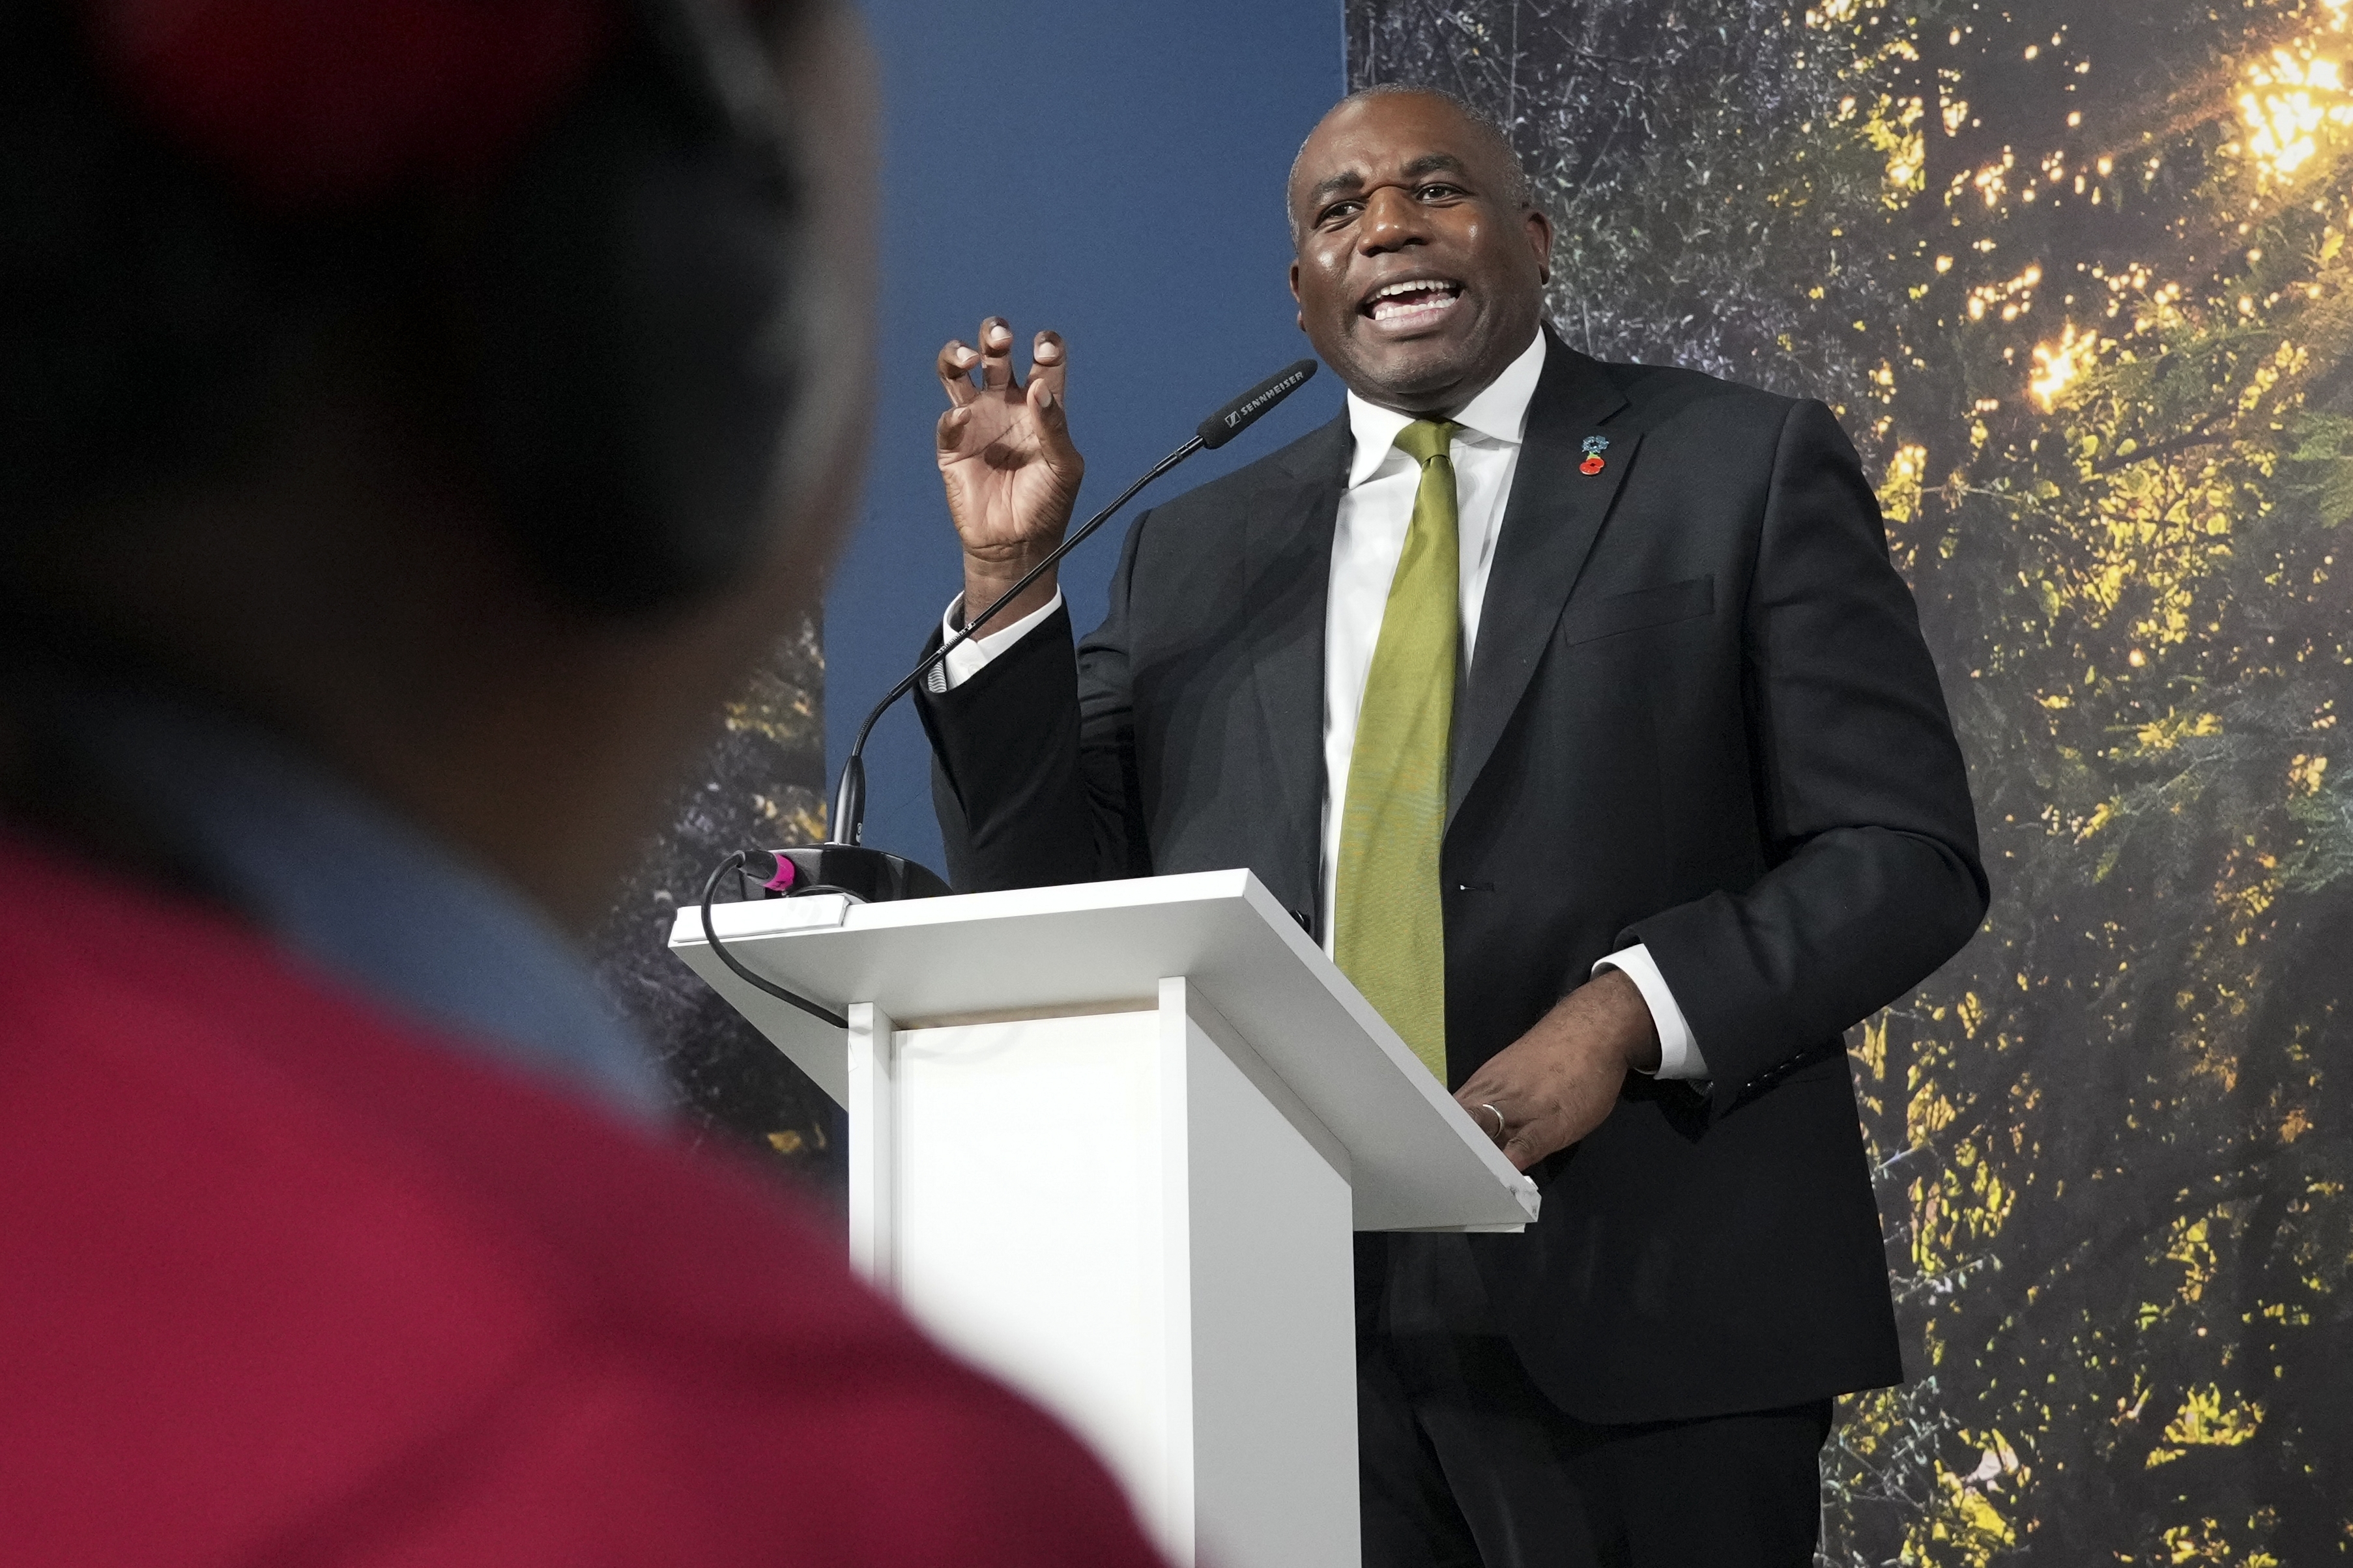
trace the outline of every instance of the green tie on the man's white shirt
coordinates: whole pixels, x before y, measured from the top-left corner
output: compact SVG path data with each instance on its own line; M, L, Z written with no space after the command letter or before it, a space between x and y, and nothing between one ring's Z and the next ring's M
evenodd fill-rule
M1421 489L1355 717L1332 893L1332 957L1440 1084L1447 1081L1447 926L1438 844L1447 825L1461 649L1447 442L1459 428L1417 418L1398 433L1398 449L1421 463Z

